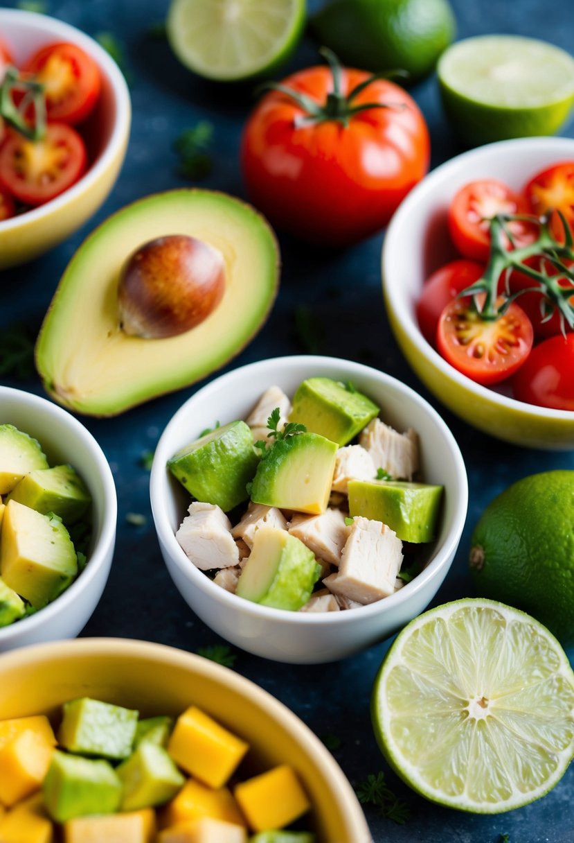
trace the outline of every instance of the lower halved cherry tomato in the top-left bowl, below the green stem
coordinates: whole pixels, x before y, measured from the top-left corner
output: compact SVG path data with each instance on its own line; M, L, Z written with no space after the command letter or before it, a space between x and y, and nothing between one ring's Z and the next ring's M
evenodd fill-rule
M72 126L50 123L41 141L9 132L0 148L0 183L25 205L43 205L77 182L88 155Z

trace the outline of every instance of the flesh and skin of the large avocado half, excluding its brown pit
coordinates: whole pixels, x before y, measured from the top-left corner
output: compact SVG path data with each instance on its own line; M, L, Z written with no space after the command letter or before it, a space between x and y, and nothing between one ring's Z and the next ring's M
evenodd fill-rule
M221 252L226 289L215 310L178 336L144 339L121 329L118 284L142 244L187 234ZM263 325L279 285L279 247L250 205L225 193L158 193L114 213L66 267L40 328L36 368L60 404L115 416L221 368Z

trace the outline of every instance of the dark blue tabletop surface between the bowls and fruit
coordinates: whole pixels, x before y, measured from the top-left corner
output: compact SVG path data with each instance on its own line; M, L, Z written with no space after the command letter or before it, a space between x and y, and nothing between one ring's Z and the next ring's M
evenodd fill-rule
M17 6L17 3L4 3ZM316 8L317 3L310 3ZM541 37L571 49L571 3L549 6L545 0L454 0L459 37L483 33L517 33ZM14 319L37 330L61 272L96 223L126 202L182 186L173 140L183 129L207 119L215 126L214 168L202 185L244 196L237 166L242 122L252 104L248 88L221 88L186 72L167 43L154 39L148 27L165 17L166 0L51 0L47 10L90 35L113 33L125 46L130 69L133 128L124 169L112 195L87 225L56 250L29 266L0 274L0 330ZM560 11L561 9L561 11ZM311 40L304 40L285 72L316 62ZM430 127L433 166L461 151L438 102L436 78L412 89ZM563 134L572 137L568 126ZM465 456L470 480L467 527L460 550L435 604L472 594L467 573L470 530L497 492L525 475L541 470L574 469L574 454L524 450L476 432L445 411L407 367L391 336L380 289L383 234L344 252L311 250L279 235L283 257L281 289L273 314L252 345L231 365L281 354L304 352L293 315L305 303L319 326L328 355L367 362L405 381L444 416ZM228 368L231 368L228 367ZM7 382L42 393L39 380ZM197 384L199 385L199 384ZM85 636L142 638L195 651L219 641L189 610L163 566L151 520L149 475L141 467L143 452L153 449L173 412L197 385L151 401L115 419L82 421L104 448L118 488L120 513L114 566L98 609L82 632ZM134 526L129 513L146 523ZM412 819L399 826L367 808L376 843L423 840L426 843L566 843L574 840L574 771L570 769L547 797L497 817L481 817L438 808L410 792L381 759L369 722L369 695L388 642L354 658L319 667L295 667L237 652L237 671L253 679L290 706L317 734L342 739L334 754L356 783L385 770L390 786L407 800ZM570 651L571 658L574 651Z

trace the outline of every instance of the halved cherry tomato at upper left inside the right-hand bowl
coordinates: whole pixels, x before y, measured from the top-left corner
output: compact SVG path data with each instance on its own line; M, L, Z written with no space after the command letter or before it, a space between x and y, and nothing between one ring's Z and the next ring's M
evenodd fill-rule
M487 260L490 251L490 220L497 213L529 213L529 204L496 179L471 181L454 195L449 207L449 232L461 255L472 260ZM533 243L536 228L527 222L508 225L517 245Z

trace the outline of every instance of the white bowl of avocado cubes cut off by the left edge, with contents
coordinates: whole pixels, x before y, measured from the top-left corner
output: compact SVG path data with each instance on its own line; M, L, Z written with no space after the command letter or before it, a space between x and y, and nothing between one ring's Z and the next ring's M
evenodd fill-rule
M0 386L0 652L77 636L104 590L116 521L91 433L50 401Z

